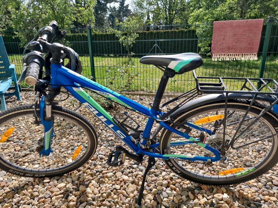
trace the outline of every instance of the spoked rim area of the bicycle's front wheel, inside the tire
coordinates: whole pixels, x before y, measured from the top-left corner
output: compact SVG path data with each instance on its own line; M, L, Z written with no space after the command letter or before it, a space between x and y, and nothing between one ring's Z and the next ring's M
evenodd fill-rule
M39 155L38 146L43 141L43 126L33 123L33 110L28 114L25 110L22 113L24 115L2 123L1 135L12 126L14 131L4 143L0 144L0 162L15 171L39 174L61 172L81 162L87 156L88 147L91 145L88 140L89 134L82 127L82 123L76 124L73 119L57 112L53 110L55 137L51 144L53 152L49 156ZM79 146L81 146L80 153L73 157Z

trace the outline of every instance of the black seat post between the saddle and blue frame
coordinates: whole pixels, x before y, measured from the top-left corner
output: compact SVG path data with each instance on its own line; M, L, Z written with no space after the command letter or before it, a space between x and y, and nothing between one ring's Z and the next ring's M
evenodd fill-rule
M167 72L167 70L164 71L164 73L163 73L163 75L162 75L162 77L160 79L160 83L159 83L159 86L158 86L158 89L157 89L156 96L154 98L153 104L151 106L151 109L156 110L156 111L160 111L159 105L160 105L162 96L164 94L165 88L167 86L169 77L173 77L173 76L174 76L173 73Z

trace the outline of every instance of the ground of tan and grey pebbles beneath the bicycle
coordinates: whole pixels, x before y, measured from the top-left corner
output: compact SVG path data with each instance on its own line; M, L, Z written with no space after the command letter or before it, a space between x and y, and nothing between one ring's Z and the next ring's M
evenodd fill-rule
M14 96L7 98L7 107L30 104L36 98L33 92L21 92L21 97L21 101ZM149 96L131 99L145 106L153 101ZM108 166L109 153L123 143L72 97L59 105L75 110L92 122L98 134L96 154L83 167L62 177L33 179L0 171L0 207L135 207L147 161L138 166L126 158L122 166ZM120 107L109 113L116 115L122 110ZM136 117L144 126L145 118ZM150 170L145 183L143 207L278 207L277 171L275 166L261 177L237 186L207 186L178 177L162 160L157 160L156 169Z

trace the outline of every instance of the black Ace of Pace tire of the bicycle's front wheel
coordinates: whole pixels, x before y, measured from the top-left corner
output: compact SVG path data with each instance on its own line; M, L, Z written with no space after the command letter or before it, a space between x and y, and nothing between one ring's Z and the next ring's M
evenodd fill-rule
M39 113L39 108L37 108L36 111ZM23 105L2 112L0 114L0 128L2 127L2 125L5 125L5 123L7 123L9 120L12 120L13 118L17 118L17 117L21 118L21 116L26 116L31 114L34 115L34 105ZM33 168L30 171L28 170L28 168L22 169L14 166L14 164L10 165L8 161L5 160L2 155L0 155L0 168L2 170L23 177L34 177L34 178L54 177L54 176L60 176L68 172L71 172L73 170L76 170L77 168L85 164L92 157L97 147L97 134L92 124L82 115L57 105L52 106L52 114L54 117L62 116L62 118L68 118L71 122L73 123L76 122L78 126L82 125L83 131L85 131L88 137L87 138L88 148L85 150L85 153L84 155L82 155L82 158L74 161L71 165L65 168L61 168L61 169L59 168L59 170L53 170L53 171L45 170L45 172L41 170L40 172L40 170L39 171L36 169L33 170ZM3 132L1 133L3 134ZM0 145L5 145L5 142Z

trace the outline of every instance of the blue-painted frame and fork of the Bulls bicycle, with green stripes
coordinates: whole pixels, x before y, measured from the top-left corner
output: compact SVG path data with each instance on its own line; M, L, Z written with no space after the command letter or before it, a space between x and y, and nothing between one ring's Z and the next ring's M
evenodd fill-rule
M179 131L177 129L174 129L173 127L166 124L164 121L159 120L160 116L163 115L163 112L159 112L153 109L149 109L143 105L140 105L139 103L136 103L135 101L132 101L128 99L127 97L118 94L117 92L114 92L78 73L75 73L74 71L62 66L61 64L51 64L51 82L53 86L56 87L56 85L63 86L68 92L70 92L78 101L80 101L85 107L87 107L95 116L98 117L109 129L111 129L119 138L121 138L136 154L142 154L147 155L151 157L157 157L162 159L170 159L170 158L180 158L180 159L186 159L191 161L218 161L222 157L220 157L220 152L205 144L200 142L199 139L193 138L188 133L184 133L182 131ZM80 85L78 86L77 83ZM74 87L73 87L74 86ZM152 144L150 146L149 151L144 150L139 143L136 145L134 144L131 139L132 137L129 135L126 135L125 132L123 132L112 120L112 117L107 113L92 97L90 97L83 89L82 87L87 87L92 89L95 92L98 92L100 94L103 94L107 99L114 100L116 102L119 102L127 107L130 107L134 111L141 112L142 114L145 114L148 117L145 129L143 131L143 138L149 138L149 135L151 133L151 129L153 127L154 121L159 122L159 124L164 127L165 129L168 129L182 137L184 137L186 140L179 141L179 142L171 142L170 146L177 146L181 144L192 144L195 143L196 145L199 145L215 154L215 157L205 157L205 156L191 156L191 155L176 155L176 154L158 154L155 153L155 148L159 146L159 143ZM41 105L40 105L40 112L43 112L44 108L44 96L41 99ZM42 124L45 128L45 141L44 141L44 149L43 153L48 153L51 151L50 144L51 139L54 136L52 130L52 123L46 123L42 119ZM204 129L202 127L199 127L195 124L187 122L186 125L191 126L195 129L201 129L202 131L206 131L210 135L214 134L209 129ZM51 138L49 139L49 135L51 133ZM142 145L145 145L147 143L147 140L140 141ZM49 149L50 148L50 149Z

